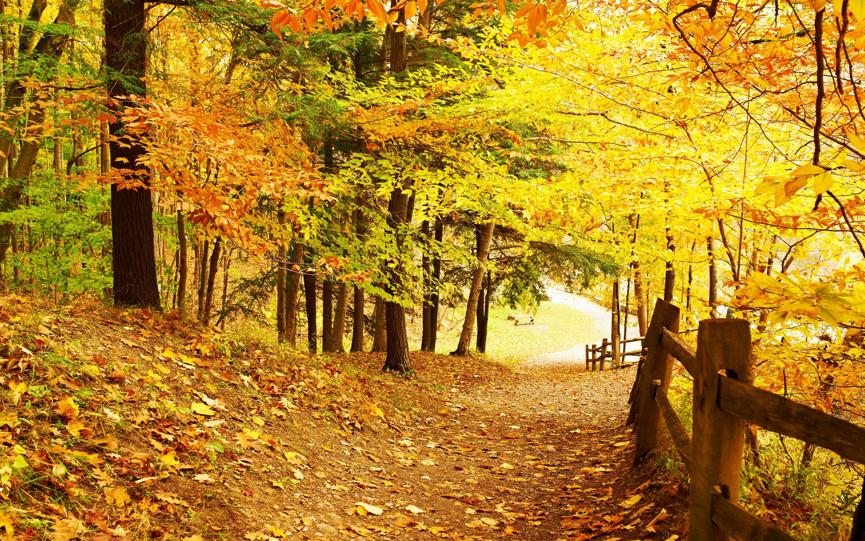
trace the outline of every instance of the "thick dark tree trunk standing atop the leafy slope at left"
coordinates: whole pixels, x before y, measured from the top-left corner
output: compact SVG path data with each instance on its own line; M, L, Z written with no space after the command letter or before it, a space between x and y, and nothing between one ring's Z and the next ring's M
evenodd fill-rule
M108 96L146 95L142 77L147 55L147 15L142 0L106 0L104 3L106 73ZM123 132L120 120L129 102L112 107L116 119L112 133ZM109 143L111 163L125 168L138 167L144 149L133 144ZM153 207L150 175L146 170L130 173L144 187L118 190L112 184L112 259L114 267L114 304L147 306L159 310L156 257L153 252Z

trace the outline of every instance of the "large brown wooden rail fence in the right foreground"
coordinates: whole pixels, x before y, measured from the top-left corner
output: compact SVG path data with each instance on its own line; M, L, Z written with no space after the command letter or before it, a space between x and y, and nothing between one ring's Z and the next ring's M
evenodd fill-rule
M859 463L865 463L865 428L754 387L746 319L702 320L696 350L682 340L678 326L679 309L658 299L631 390L635 463L657 447L663 420L691 478L689 539L791 541L737 503L746 423ZM691 435L667 398L674 359L694 378ZM863 523L860 499L851 541L865 538Z

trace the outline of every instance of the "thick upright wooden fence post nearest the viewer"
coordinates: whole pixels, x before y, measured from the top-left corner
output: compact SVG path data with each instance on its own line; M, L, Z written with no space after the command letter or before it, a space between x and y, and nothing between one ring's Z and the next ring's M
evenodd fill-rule
M746 422L718 407L718 371L752 383L751 330L746 319L703 319L697 334L691 446L689 538L732 541L712 522L712 490L737 503Z

